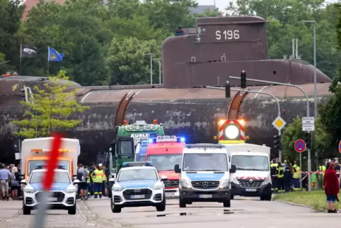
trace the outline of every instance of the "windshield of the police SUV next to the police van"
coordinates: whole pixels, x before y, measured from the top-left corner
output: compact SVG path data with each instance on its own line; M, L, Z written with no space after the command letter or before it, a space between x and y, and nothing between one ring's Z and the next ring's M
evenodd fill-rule
M138 180L158 180L158 176L154 169L124 169L117 178L117 182Z

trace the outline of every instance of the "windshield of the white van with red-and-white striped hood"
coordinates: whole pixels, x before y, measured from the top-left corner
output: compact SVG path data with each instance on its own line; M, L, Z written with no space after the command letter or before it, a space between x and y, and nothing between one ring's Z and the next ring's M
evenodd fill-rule
M267 156L233 155L231 164L235 165L237 170L250 171L269 171L269 159Z

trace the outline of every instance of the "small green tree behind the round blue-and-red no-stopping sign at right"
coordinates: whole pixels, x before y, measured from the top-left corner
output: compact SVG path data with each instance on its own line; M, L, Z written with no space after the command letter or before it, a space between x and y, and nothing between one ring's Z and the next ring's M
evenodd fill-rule
M299 161L299 153L294 149L294 144L297 139L306 140L306 132L302 131L302 120L299 116L294 118L288 127L284 129L282 135L283 157L289 161ZM315 122L315 131L312 132L312 146L311 149L311 164L316 168L316 159L325 156L326 149L330 142L330 135L326 132L321 119L318 118ZM316 153L318 157L316 157ZM302 164L306 167L307 152L302 152Z

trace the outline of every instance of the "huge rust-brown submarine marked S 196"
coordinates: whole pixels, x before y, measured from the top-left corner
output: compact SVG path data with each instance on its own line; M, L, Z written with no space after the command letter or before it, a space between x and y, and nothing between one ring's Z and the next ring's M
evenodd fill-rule
M240 76L245 70L248 78L299 84L311 98L313 110L313 71L307 62L291 59L269 59L266 21L257 16L197 18L195 33L177 35L164 40L162 45L163 84L139 86L81 86L77 101L90 110L78 114L82 124L68 137L81 140L83 163L96 161L99 150L110 145L114 134L115 111L122 97L134 94L127 103L126 119L163 123L167 135L186 137L187 143L213 142L217 122L221 116L234 113L246 120L249 142L272 147L277 130L272 121L277 117L277 104L273 98L260 93L248 93L241 98L225 98L224 91L205 86L231 86L240 81L229 76ZM318 102L324 102L332 93L328 91L330 79L317 70ZM0 79L0 161L13 161L18 141L13 136L16 128L11 120L22 118L20 89L23 86L45 84L36 76L6 76ZM304 95L289 86L249 83L248 89L266 91L279 98L282 118L290 122L296 115L305 116ZM233 102L231 103L231 101ZM230 109L229 106L231 105ZM277 151L273 150L275 156Z

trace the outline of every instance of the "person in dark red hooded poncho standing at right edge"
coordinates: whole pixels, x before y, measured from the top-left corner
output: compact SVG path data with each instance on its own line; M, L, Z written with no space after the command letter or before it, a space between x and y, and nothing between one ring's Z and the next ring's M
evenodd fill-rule
M334 165L330 164L325 171L325 195L327 195L328 213L336 213L335 200L339 201L337 198L339 190L339 179L334 170Z

